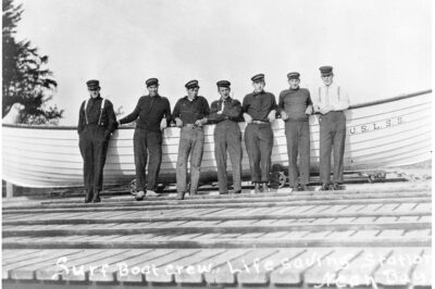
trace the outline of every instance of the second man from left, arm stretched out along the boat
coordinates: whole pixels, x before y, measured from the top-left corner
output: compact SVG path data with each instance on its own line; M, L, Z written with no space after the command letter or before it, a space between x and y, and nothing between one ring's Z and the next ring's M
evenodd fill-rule
M145 196L157 197L158 176L162 163L162 129L167 127L172 120L170 101L159 95L159 79L149 78L146 81L149 95L139 98L136 109L120 124L136 121L133 138L136 166L136 200L141 201ZM163 118L164 117L164 118ZM147 161L148 183L146 177Z

